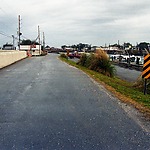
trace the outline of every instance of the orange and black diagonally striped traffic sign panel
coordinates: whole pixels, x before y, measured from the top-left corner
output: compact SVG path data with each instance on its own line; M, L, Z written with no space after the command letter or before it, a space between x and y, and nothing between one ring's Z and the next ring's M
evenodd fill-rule
M142 78L150 79L150 54L144 57Z

